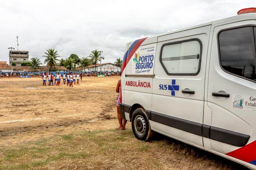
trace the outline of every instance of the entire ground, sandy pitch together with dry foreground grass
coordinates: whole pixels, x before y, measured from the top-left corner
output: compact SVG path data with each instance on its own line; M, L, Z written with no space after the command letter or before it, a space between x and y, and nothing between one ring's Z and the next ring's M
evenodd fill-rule
M137 140L118 126L118 77L42 86L40 78L0 79L0 169L245 169L156 135Z

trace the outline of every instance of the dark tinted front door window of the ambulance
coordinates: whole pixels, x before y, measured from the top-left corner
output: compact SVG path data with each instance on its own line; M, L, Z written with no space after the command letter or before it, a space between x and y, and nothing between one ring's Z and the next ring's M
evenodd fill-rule
M219 33L219 57L224 71L256 81L256 28L247 26Z

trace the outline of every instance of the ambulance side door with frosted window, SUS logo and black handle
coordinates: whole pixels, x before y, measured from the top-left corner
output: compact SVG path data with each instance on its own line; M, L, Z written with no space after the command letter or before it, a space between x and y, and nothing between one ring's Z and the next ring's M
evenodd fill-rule
M152 89L151 128L201 147L210 27L158 37Z

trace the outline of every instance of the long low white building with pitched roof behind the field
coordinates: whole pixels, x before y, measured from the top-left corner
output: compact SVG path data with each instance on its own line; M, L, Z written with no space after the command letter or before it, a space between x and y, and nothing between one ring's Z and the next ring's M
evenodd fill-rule
M74 69L75 70L75 69ZM96 70L95 70L95 64L89 65L86 68L83 67L77 67L76 71L84 71L84 72L100 72L100 64L96 64ZM101 64L101 71L102 72L121 72L121 67L112 63L102 63Z

